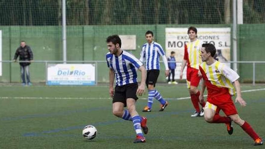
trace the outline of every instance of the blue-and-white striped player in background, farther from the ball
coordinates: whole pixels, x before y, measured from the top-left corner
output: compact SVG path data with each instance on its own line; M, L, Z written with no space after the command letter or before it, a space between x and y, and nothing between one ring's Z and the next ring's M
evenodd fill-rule
M146 85L148 87L148 103L145 106L143 112L151 112L153 98L156 98L160 102L160 110L163 111L168 105L168 102L165 101L160 93L154 88L157 81L157 77L160 72L159 57L161 56L165 64L165 75L168 76L169 69L167 64L166 54L157 42L154 42L154 34L152 31L147 31L145 33L145 39L147 43L142 46L140 61L145 60L145 68L147 70Z

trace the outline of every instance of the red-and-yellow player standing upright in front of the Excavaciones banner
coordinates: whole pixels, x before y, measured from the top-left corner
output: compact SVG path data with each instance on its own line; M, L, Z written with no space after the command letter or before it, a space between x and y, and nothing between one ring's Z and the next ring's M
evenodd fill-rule
M195 112L191 115L192 117L203 116L203 108L200 110L199 106L199 95L198 85L201 80L201 73L199 72L199 65L201 64L201 42L197 39L197 29L195 27L189 27L188 35L190 42L185 44L184 49L184 58L181 65L180 76L182 79L183 70L187 65L187 86L189 88L191 101ZM205 103L201 103L201 106L204 107Z

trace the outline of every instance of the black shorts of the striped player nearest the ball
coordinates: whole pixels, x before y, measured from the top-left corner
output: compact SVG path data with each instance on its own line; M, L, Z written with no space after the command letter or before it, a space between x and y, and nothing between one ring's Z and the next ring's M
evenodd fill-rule
M126 100L128 98L133 98L135 100L138 99L138 97L136 96L137 89L138 89L137 83L130 83L130 84L121 85L121 86L116 85L112 103L122 102L124 104L124 107L126 107L127 106Z

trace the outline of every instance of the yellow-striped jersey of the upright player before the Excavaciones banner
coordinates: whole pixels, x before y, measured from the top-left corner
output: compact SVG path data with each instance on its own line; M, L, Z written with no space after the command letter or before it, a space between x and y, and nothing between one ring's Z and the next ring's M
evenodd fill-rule
M199 39L185 44L184 60L187 60L188 67L199 69L201 64L201 45L202 43Z

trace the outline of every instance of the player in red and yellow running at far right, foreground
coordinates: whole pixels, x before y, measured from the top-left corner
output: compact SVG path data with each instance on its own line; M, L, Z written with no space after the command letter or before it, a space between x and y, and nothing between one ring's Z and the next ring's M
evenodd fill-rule
M239 75L227 67L225 64L216 61L213 57L216 49L213 44L203 44L201 48L201 60L203 63L199 66L202 74L203 83L201 86L200 101L204 101L203 93L207 87L207 102L204 107L204 119L208 123L225 123L229 135L233 133L232 121L241 126L241 128L250 135L255 141L254 145L262 145L263 140L252 129L248 122L242 120L235 108L231 96L237 92L235 102L246 106L246 102L241 97ZM232 85L234 83L234 86ZM219 111L223 110L226 116L220 116Z

